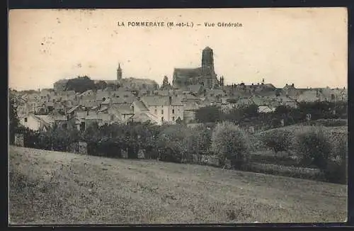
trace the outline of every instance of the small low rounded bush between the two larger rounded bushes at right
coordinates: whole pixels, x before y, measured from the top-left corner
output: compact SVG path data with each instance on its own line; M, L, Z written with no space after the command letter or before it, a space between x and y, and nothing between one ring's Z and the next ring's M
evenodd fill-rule
M293 143L294 135L288 130L270 130L262 133L260 136L261 142L265 147L270 148L275 153L288 151Z

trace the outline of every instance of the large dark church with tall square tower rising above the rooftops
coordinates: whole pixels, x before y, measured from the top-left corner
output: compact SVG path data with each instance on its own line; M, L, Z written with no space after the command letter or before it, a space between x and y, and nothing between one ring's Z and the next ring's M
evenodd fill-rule
M220 79L223 81L223 78ZM175 68L173 70L173 87L185 89L190 85L201 84L204 89L215 89L221 83L214 69L214 54L210 47L202 50L202 67Z

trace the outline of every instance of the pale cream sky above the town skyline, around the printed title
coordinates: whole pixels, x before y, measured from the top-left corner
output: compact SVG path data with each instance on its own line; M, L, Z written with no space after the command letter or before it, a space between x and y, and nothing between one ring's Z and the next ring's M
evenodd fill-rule
M189 22L193 28L132 28L128 21ZM125 23L125 27L118 26ZM205 28L204 23L242 23ZM201 26L195 26L201 23ZM225 83L282 87L347 86L344 8L13 10L9 13L9 85L52 87L88 75L172 81L174 67L199 67L206 46Z

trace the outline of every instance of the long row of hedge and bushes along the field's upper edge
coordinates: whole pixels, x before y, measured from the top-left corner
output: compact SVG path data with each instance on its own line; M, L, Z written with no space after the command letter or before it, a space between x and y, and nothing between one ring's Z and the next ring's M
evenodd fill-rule
M105 125L93 124L84 133L56 128L45 133L24 130L25 146L45 150L67 151L72 142L87 142L88 154L105 157L136 159L144 150L147 159L166 162L195 163L195 156L209 154L219 159L219 166L231 164L234 169L249 169L255 159L255 145L275 152L297 153L297 166L316 166L328 181L345 184L347 181L347 140L337 138L319 126L297 131L270 130L261 135L249 135L231 122L217 123L215 127L199 125ZM258 157L260 158L260 157ZM252 160L253 159L253 160ZM265 163L270 163L270 158ZM279 158L273 158L279 164ZM282 159L282 162L287 162ZM296 166L296 165L295 165ZM253 171L253 170L251 170ZM274 171L275 173L276 171ZM297 174L294 173L294 176Z

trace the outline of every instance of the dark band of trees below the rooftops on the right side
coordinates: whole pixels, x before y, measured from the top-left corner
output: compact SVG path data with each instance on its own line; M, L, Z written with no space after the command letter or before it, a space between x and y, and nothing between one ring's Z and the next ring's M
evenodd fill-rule
M241 127L254 126L262 130L279 128L282 125L304 123L310 115L311 120L319 119L347 119L348 102L303 102L297 108L278 106L270 113L258 112L256 104L232 108L222 111L218 106L199 108L195 113L198 123L215 123L230 121Z

